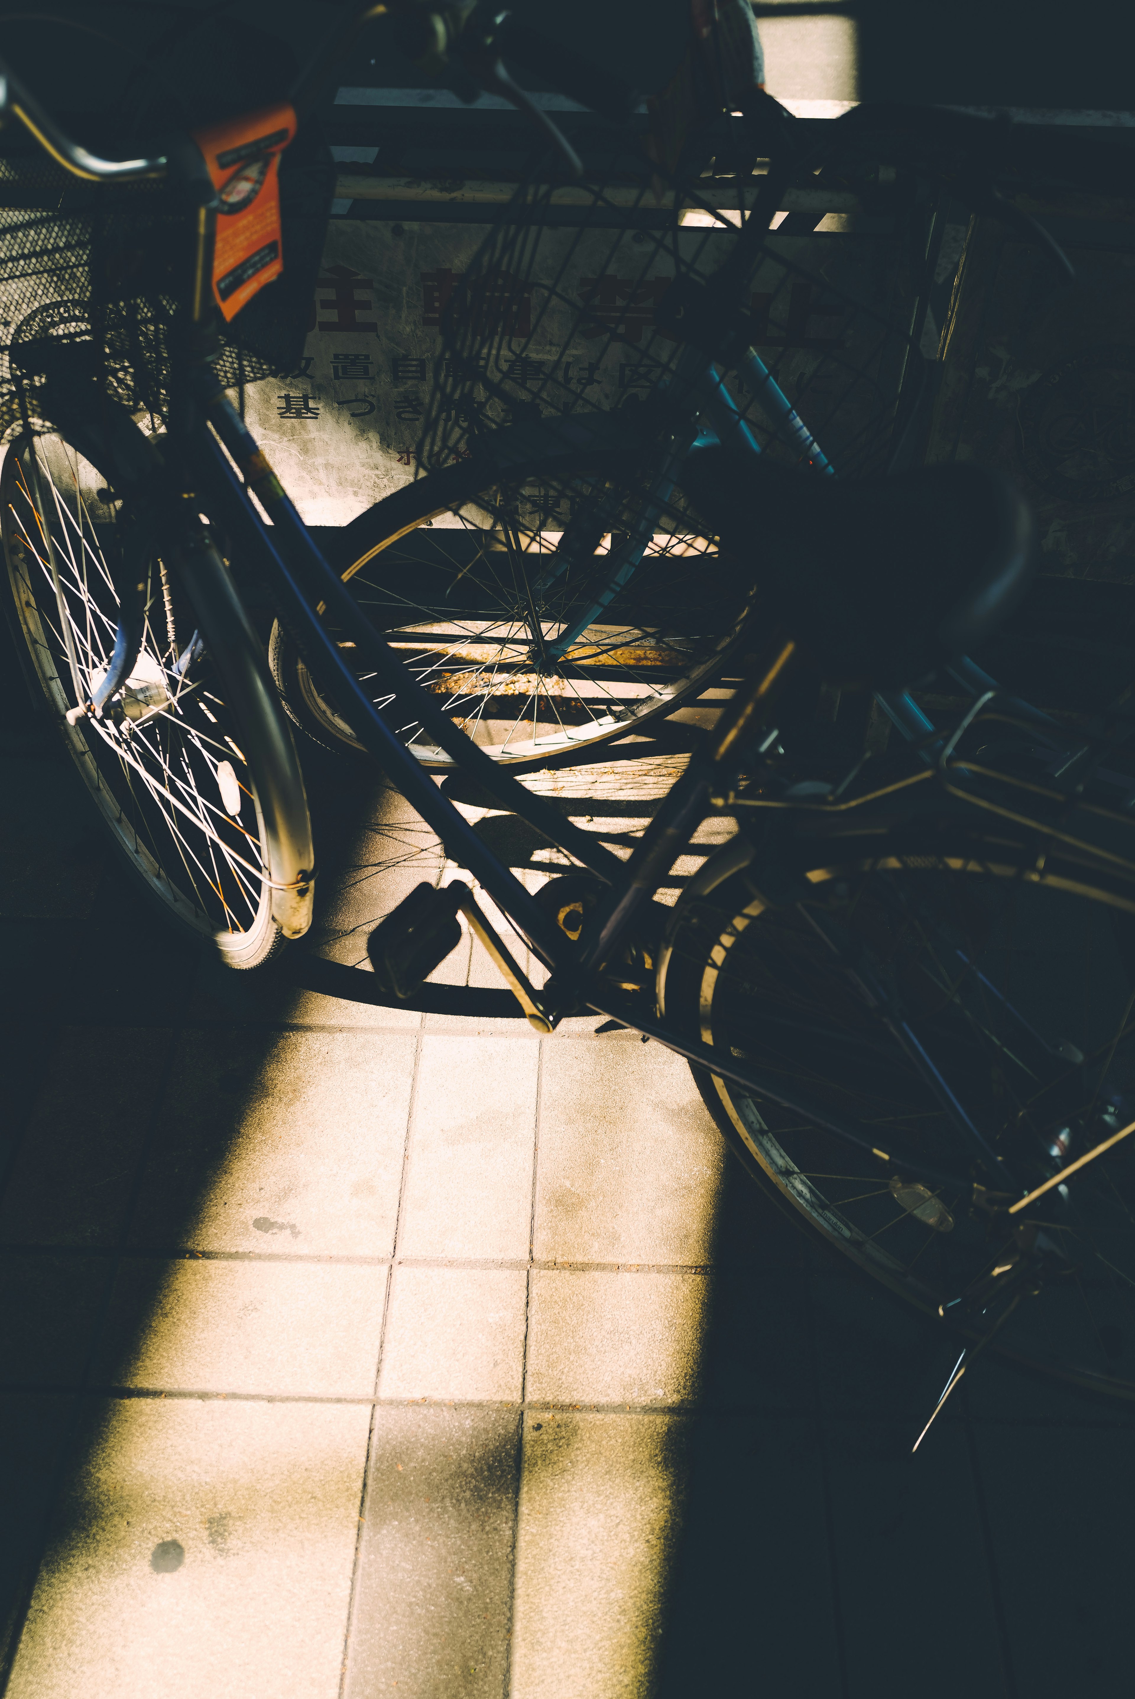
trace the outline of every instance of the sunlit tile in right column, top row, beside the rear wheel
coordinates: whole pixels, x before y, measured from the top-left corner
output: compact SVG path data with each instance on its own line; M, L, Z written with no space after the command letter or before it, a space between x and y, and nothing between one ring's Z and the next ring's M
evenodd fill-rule
M688 1065L659 1045L545 1045L535 1256L707 1262L724 1145Z

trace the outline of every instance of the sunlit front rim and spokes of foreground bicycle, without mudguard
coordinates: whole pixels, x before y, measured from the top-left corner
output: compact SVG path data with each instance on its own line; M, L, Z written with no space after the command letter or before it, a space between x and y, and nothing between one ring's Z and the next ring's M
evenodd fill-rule
M90 697L105 678L114 649L117 501L102 474L54 435L12 443L0 501L19 632L117 850L167 916L211 938L229 965L260 965L282 933L246 761L253 732L234 717L200 644L194 649L187 598L156 556L146 562L143 644L131 675L100 717L68 722L80 691Z

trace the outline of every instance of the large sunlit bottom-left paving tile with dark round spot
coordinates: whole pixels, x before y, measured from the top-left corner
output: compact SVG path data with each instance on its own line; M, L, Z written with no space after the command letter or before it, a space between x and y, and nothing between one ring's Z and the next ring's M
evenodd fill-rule
M56 1519L12 1699L335 1699L369 1420L112 1403Z

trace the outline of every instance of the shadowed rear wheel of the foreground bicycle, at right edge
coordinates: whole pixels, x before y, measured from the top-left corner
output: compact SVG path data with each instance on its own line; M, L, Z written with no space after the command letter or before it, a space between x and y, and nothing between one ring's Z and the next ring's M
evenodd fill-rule
M675 914L661 987L666 1014L705 1043L878 1142L860 1155L695 1070L749 1174L860 1269L982 1337L997 1281L1016 1279L1023 1252L1004 1206L975 1188L1008 1184L999 1157L1011 1184L1031 1189L1132 1120L1133 945L1135 889L1059 856L1038 861L1025 834L948 817L872 831L865 819L858 833L792 831L768 861L734 839ZM962 1135L878 997L856 985L865 977L992 1157ZM904 1159L884 1159L889 1145ZM974 1184L919 1181L918 1162ZM1040 1291L1011 1308L997 1347L1135 1397L1130 1142L1048 1191L1042 1215Z

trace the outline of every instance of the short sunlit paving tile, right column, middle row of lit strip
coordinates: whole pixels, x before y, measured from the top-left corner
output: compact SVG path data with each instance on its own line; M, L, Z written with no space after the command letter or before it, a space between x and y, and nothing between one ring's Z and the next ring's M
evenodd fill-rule
M683 1403L698 1390L705 1274L534 1269L525 1397Z

